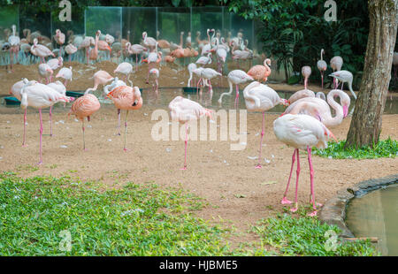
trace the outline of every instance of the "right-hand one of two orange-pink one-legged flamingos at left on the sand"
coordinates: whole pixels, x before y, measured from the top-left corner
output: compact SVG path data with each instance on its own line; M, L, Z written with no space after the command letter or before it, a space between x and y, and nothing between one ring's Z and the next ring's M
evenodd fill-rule
M140 88L138 87L128 87L128 86L120 86L118 88L114 88L107 95L115 104L118 110L126 110L126 119L125 119L125 141L123 150L127 151L126 148L126 134L127 134L127 116L128 110L139 110L142 107L142 97Z

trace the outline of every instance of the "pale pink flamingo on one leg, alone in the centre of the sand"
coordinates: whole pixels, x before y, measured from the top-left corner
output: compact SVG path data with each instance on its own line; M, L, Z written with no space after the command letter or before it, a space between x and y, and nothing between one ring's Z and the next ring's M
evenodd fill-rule
M180 124L185 124L185 157L184 167L181 170L187 170L187 147L188 147L188 123L190 120L195 120L205 116L211 117L212 110L203 108L199 103L183 98L181 96L175 97L169 103L170 114L172 120L179 121Z

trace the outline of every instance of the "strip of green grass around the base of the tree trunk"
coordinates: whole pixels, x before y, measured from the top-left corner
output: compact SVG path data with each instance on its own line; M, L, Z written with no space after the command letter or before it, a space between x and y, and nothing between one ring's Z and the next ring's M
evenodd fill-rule
M371 147L344 148L346 141L328 142L325 149L314 148L314 155L334 159L376 159L398 156L398 141L388 138Z

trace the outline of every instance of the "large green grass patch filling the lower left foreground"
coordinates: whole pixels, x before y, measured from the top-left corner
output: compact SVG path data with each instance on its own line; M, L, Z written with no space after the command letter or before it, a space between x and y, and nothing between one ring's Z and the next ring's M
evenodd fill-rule
M70 177L0 173L0 255L266 254L231 249L229 230L193 217L189 210L202 209L202 200L154 184L104 189Z

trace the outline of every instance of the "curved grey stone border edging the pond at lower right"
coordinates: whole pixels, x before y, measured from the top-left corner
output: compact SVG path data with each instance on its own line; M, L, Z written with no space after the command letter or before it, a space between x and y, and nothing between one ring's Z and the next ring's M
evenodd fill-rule
M348 202L355 197L361 197L373 190L395 183L398 183L398 174L380 179L368 179L354 186L341 189L336 196L325 202L318 218L323 223L338 226L341 229L341 237L354 238L354 234L349 231L345 223Z

